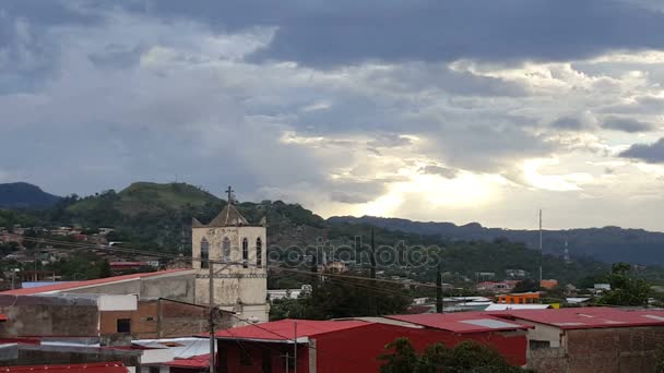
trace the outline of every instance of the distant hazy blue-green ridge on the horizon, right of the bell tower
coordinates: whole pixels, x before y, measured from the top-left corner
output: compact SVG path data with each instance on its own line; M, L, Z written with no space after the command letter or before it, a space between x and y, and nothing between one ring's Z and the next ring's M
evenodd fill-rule
M369 224L388 230L435 234L453 241L507 239L512 242L523 242L529 249L540 248L537 230L486 228L477 222L456 226L451 222L424 222L374 216L331 217L328 221L330 224ZM662 232L619 227L543 231L545 253L561 256L566 241L572 257L588 256L606 263L664 264L664 233Z

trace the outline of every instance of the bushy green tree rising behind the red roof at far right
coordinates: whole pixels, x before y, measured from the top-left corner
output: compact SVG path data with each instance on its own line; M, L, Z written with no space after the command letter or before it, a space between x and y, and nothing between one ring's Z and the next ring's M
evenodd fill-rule
M651 285L643 278L629 276L631 266L627 263L614 263L608 275L610 290L605 291L597 300L600 304L610 305L648 305L652 292Z

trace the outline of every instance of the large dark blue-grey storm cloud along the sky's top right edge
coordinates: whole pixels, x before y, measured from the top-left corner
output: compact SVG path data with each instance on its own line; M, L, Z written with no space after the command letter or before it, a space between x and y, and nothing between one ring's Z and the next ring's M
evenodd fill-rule
M154 1L147 12L217 28L278 26L259 59L337 65L365 60L568 60L661 48L664 13L617 0Z

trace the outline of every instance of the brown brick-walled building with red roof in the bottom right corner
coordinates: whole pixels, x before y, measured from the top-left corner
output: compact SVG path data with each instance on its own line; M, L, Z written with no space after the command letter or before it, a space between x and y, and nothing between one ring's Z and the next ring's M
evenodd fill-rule
M527 323L527 366L537 372L655 372L664 311L614 308L491 312Z

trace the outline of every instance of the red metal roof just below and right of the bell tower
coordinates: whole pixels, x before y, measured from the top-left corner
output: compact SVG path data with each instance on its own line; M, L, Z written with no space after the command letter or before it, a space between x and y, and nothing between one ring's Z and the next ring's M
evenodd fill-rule
M280 320L276 322L234 327L215 333L224 339L261 339L261 340L293 340L295 339L295 323L297 337L312 337L319 334L339 332L354 327L370 325L361 321L315 321L315 320ZM205 336L205 335L201 335Z

